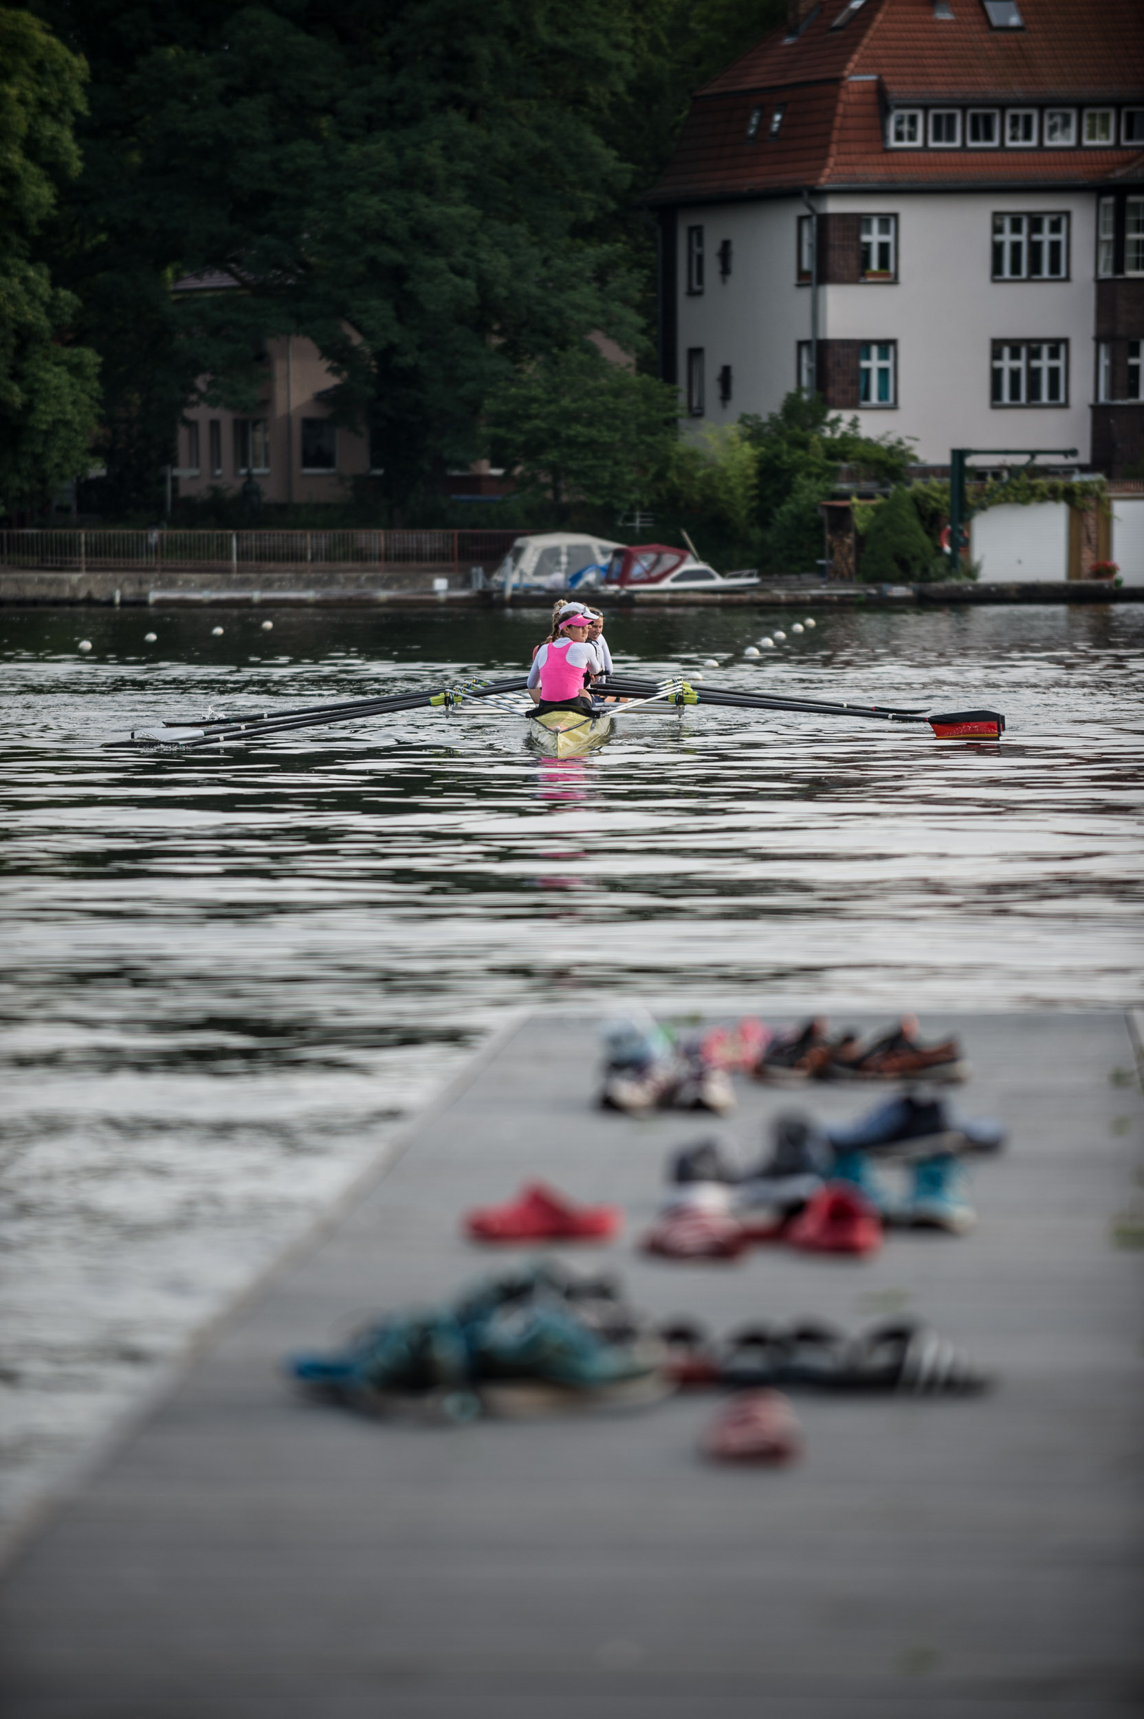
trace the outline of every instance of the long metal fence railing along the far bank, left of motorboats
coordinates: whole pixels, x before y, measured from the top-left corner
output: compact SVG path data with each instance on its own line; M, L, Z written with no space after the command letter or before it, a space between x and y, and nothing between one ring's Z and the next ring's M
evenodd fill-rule
M0 567L45 572L496 567L526 531L0 531Z

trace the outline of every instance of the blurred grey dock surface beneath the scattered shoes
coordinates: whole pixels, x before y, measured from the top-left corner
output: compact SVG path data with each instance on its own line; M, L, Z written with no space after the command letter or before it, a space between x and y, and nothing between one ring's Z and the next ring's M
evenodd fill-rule
M842 1025L878 1025L861 1014ZM873 1260L641 1258L666 1152L878 1092L739 1081L735 1117L593 1109L596 1023L478 1057L333 1227L247 1298L14 1561L5 1719L1104 1719L1144 1704L1141 1088L1120 1014L929 1016L1008 1150L965 1238ZM718 1398L441 1428L278 1372L490 1270L460 1212L543 1176L629 1214L569 1262L715 1332L914 1313L995 1370L965 1401L795 1394L787 1470L704 1465Z

